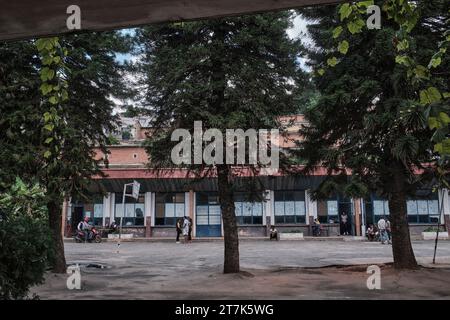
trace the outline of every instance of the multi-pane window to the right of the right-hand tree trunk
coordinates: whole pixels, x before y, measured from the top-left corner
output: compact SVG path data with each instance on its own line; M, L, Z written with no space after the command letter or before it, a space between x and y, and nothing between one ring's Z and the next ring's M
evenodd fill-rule
M438 223L437 199L410 199L406 202L409 223Z

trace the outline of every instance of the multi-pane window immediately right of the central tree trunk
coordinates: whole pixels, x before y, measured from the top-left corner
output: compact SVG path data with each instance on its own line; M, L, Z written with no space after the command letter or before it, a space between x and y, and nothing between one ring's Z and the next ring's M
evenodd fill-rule
M245 193L236 193L234 196L236 220L239 225L262 224L263 202L252 202Z

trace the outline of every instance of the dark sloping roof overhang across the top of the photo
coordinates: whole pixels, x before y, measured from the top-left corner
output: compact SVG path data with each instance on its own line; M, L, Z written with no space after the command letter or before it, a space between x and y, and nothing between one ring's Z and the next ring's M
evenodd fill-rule
M224 17L344 0L14 0L0 2L0 40L72 32L67 19L80 8L82 31L104 31L166 21ZM69 13L68 13L69 11Z

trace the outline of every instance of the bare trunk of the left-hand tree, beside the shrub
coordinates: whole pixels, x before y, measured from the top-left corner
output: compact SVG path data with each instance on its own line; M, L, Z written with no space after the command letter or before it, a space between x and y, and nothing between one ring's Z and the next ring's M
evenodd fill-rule
M54 273L66 273L66 258L64 256L64 241L61 233L61 205L50 201L47 203L48 218L52 243L54 248L54 259L52 270Z

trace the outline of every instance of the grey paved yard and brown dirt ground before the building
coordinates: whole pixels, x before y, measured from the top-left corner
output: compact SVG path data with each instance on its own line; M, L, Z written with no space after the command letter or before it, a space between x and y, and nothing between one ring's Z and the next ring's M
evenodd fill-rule
M41 299L450 299L450 241L416 241L420 270L389 265L389 245L339 241L242 241L240 274L222 273L223 242L66 243L81 265L81 290L48 274L31 292ZM106 268L86 267L101 264ZM367 265L381 267L381 290L368 290Z

